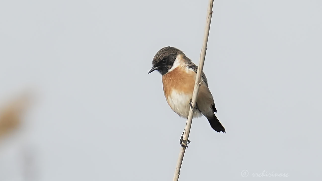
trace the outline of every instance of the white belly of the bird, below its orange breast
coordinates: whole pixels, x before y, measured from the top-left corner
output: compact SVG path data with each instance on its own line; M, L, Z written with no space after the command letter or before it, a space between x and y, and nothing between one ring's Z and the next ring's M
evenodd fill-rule
M192 94L178 93L176 90L172 90L171 94L166 98L169 106L179 116L188 118L190 108L190 100ZM198 110L194 112L194 117L199 117L201 114Z

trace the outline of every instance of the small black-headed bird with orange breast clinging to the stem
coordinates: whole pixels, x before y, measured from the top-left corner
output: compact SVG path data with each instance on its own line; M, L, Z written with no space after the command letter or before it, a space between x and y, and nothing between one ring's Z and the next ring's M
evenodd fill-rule
M170 108L180 117L188 118L198 66L181 50L167 46L153 57L148 74L158 71L162 75L163 91ZM202 72L201 85L193 117L205 116L212 129L225 133L226 130L214 112L217 112L213 95L208 88L207 78ZM182 141L182 137L180 139ZM189 141L190 142L190 141ZM182 146L182 145L181 145Z

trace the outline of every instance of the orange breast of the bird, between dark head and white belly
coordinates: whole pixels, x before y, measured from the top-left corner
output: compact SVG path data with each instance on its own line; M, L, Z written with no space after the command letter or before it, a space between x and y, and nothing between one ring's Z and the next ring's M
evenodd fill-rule
M186 71L184 67L177 67L162 76L163 91L166 98L175 89L178 92L192 94L196 73L193 70Z

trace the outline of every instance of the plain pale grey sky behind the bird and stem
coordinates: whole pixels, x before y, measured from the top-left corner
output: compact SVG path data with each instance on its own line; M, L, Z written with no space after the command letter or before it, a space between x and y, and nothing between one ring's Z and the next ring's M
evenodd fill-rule
M171 180L185 119L152 58L199 64L208 1L1 1L0 103L31 88L21 133L0 145L0 180ZM215 0L204 72L226 134L194 119L180 180L317 180L322 2ZM241 172L248 170L249 176ZM289 177L253 177L252 173Z

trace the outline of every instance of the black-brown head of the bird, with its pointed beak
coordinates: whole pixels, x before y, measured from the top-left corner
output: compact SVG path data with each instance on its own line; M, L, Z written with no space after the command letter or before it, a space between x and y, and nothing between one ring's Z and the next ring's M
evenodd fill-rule
M175 58L179 55L184 53L175 48L175 47L164 47L161 48L156 55L153 58L152 61L152 68L148 73L151 73L153 71L159 71L161 75L165 75L169 69L173 66L173 63L175 62Z

